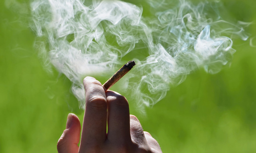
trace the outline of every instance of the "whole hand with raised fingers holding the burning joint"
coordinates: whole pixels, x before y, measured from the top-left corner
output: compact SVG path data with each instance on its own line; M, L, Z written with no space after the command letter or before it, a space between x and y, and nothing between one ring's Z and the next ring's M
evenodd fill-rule
M114 91L105 92L92 77L83 80L85 114L81 125L69 114L66 130L57 143L59 153L161 153L157 141L143 132L140 121L129 113L128 101ZM108 127L108 131L107 131Z

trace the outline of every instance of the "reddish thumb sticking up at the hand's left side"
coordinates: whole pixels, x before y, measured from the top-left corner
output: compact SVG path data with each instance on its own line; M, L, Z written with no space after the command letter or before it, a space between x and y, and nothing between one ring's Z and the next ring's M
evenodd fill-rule
M66 130L57 143L58 153L78 153L78 143L80 139L81 124L79 118L72 113L69 113Z

